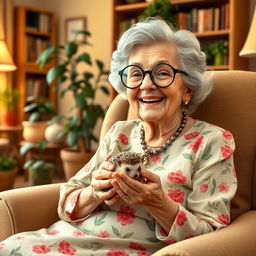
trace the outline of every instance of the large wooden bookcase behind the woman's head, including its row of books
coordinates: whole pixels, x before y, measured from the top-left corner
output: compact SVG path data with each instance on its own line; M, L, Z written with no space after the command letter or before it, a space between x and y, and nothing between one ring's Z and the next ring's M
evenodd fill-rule
M228 44L228 53L225 65L214 66L209 65L210 70L233 70L248 69L248 60L239 57L239 51L242 49L246 39L249 27L249 0L170 0L171 3L178 6L178 14L176 17L179 26L184 26L191 30L203 45L208 45L216 40L224 40ZM130 24L137 22L138 16L150 4L141 1L134 4L126 4L125 0L112 0L113 4L113 50L116 48L116 42L122 33ZM199 12L200 19L199 19ZM214 19L211 13L217 13L220 18L218 23L214 20L209 21L211 28L205 28L204 16ZM191 28L188 23L188 17L193 19L197 29ZM221 18L221 16L223 16ZM197 18L195 18L197 17ZM238 18L239 17L239 18ZM203 24L202 24L203 21ZM217 24L216 24L217 23ZM195 24L194 24L195 26ZM198 27L200 26L200 29ZM115 95L114 95L115 96Z

